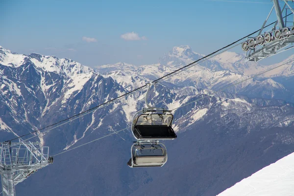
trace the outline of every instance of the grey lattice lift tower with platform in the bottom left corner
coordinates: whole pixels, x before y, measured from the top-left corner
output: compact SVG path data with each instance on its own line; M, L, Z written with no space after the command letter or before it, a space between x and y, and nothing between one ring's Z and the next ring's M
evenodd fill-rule
M2 142L0 151L2 196L15 196L15 185L53 163L49 147L39 142Z

